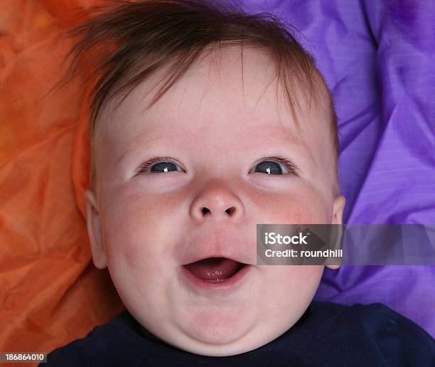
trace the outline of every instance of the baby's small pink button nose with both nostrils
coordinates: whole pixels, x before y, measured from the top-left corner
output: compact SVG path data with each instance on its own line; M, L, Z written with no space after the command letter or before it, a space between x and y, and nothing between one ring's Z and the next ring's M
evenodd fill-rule
M222 182L206 185L193 199L190 216L196 220L210 217L215 220L238 220L244 212L242 201Z

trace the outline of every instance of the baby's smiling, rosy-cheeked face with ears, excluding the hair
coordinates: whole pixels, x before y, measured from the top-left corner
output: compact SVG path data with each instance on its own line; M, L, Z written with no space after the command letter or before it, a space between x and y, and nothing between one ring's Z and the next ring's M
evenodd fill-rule
M265 90L265 53L245 50L243 85L240 48L221 56L195 63L147 113L159 74L113 115L114 102L104 107L100 194L87 192L95 265L108 265L129 312L168 344L208 356L272 341L320 282L323 266L257 267L256 224L340 223L344 205L333 196L326 97L303 105L299 133L276 81ZM210 257L222 259L198 262Z

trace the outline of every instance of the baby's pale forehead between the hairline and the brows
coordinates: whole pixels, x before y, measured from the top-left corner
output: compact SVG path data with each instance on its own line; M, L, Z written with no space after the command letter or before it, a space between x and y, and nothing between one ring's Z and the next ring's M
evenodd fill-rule
M286 107L284 92L274 77L275 64L266 51L227 46L201 55L183 77L149 110L167 68L136 87L125 100L104 106L97 125L100 139L120 160L136 147L160 144L174 138L198 139L205 146L249 145L261 139L274 144L285 139L313 158L318 139L318 109L308 108L299 90L291 91L301 104L301 129ZM323 117L324 118L324 117ZM326 125L323 122L323 125ZM162 134L163 133L163 134ZM199 146L198 146L199 148ZM116 156L116 157L115 157Z

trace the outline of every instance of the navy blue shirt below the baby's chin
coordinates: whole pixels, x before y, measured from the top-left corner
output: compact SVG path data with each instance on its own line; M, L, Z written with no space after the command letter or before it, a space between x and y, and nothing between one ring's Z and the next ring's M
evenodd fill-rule
M50 366L435 366L435 340L383 304L348 307L311 302L301 319L274 341L237 356L206 357L147 337L124 311L85 338L55 349L47 362Z

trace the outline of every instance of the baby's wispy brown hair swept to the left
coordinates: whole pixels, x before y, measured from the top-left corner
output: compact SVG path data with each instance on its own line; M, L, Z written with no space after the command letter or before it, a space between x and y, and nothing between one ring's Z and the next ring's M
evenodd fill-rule
M268 50L286 93L286 104L299 127L296 91L311 105L319 85L326 84L311 56L290 33L289 25L268 13L246 14L234 4L205 0L111 1L94 6L96 15L65 33L80 40L65 56L73 55L68 79L80 70L90 83L90 188L95 189L95 124L104 103L127 95L156 71L168 66L168 75L150 108L180 79L204 51L227 45L258 46ZM293 28L292 28L293 29ZM273 78L273 79L274 79ZM272 82L272 80L271 80ZM320 83L319 83L320 82ZM269 83L270 84L270 83ZM338 133L331 94L331 137L337 174ZM119 105L119 104L118 104Z

